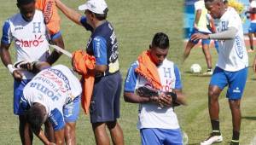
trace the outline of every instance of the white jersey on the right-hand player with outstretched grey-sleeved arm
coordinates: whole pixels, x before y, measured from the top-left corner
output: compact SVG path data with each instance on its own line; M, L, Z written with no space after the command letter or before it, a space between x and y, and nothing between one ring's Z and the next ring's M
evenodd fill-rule
M218 41L217 66L225 71L236 72L248 67L248 55L241 18L235 9L229 7L219 20L217 32L224 32L230 27L235 27L238 32L234 39Z

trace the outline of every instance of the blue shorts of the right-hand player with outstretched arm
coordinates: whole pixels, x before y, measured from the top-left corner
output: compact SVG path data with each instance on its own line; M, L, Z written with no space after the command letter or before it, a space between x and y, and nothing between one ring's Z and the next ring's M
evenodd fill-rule
M226 97L230 100L240 100L247 82L247 72L247 67L236 72L228 72L215 67L210 85L217 85L220 90L228 85Z

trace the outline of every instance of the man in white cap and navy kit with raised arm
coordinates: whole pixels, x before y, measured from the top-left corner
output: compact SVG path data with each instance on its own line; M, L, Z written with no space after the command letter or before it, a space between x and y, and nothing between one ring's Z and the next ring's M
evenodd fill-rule
M82 16L59 0L55 0L55 3L67 18L91 32L86 52L96 57L93 70L96 80L90 103L90 122L96 143L110 143L106 131L108 127L113 144L124 144L123 132L117 122L122 86L118 41L113 26L106 20L108 5L104 0L89 0L79 6L79 10L85 14Z

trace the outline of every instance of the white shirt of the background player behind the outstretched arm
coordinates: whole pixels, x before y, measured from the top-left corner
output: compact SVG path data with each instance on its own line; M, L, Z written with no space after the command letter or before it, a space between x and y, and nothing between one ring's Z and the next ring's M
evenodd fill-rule
M209 22L207 21L208 11L205 7L205 2L203 0L199 0L199 1L194 3L194 6L195 6L195 12L197 10L201 10L201 16L200 16L200 19L199 19L198 24L197 24L198 30L200 32L212 33L207 27L207 24Z

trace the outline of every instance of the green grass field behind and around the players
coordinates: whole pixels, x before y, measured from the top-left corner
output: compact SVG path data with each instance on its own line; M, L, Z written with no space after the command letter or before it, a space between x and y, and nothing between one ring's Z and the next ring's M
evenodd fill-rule
M84 0L63 0L71 8L77 9ZM15 7L15 0L0 0L0 23L18 10ZM199 144L210 133L210 123L207 111L207 84L210 77L201 77L188 73L189 67L193 63L199 63L206 69L204 56L201 49L193 49L189 59L182 66L181 55L183 52L183 0L107 0L109 14L108 20L113 23L115 32L119 40L119 61L121 73L125 78L126 70L132 61L137 59L137 55L148 45L155 32L166 32L171 40L171 49L168 58L177 62L182 70L183 91L188 97L189 106L177 107L176 112L180 124L189 136L189 144ZM66 49L84 49L90 36L89 32L81 31L82 27L76 26L61 14L61 28ZM0 32L2 35L2 32ZM12 55L15 55L13 47ZM213 63L216 62L217 54L211 49ZM253 55L250 55L252 62ZM70 66L70 61L66 56L56 63ZM13 78L7 69L0 64L0 144L20 144L18 133L18 118L13 114ZM241 124L241 145L250 144L253 136L256 136L256 111L254 104L256 94L253 86L256 83L256 76L250 72L247 79L247 88L241 102L242 124ZM254 85L253 85L254 84ZM224 93L220 100L220 125L227 144L231 137L231 115L228 102ZM140 144L140 136L136 129L137 124L137 104L125 103L121 97L121 118L120 125L124 131L125 144ZM95 144L93 132L90 127L90 118L83 113L79 116L77 124L78 144ZM34 144L41 144L35 137Z

